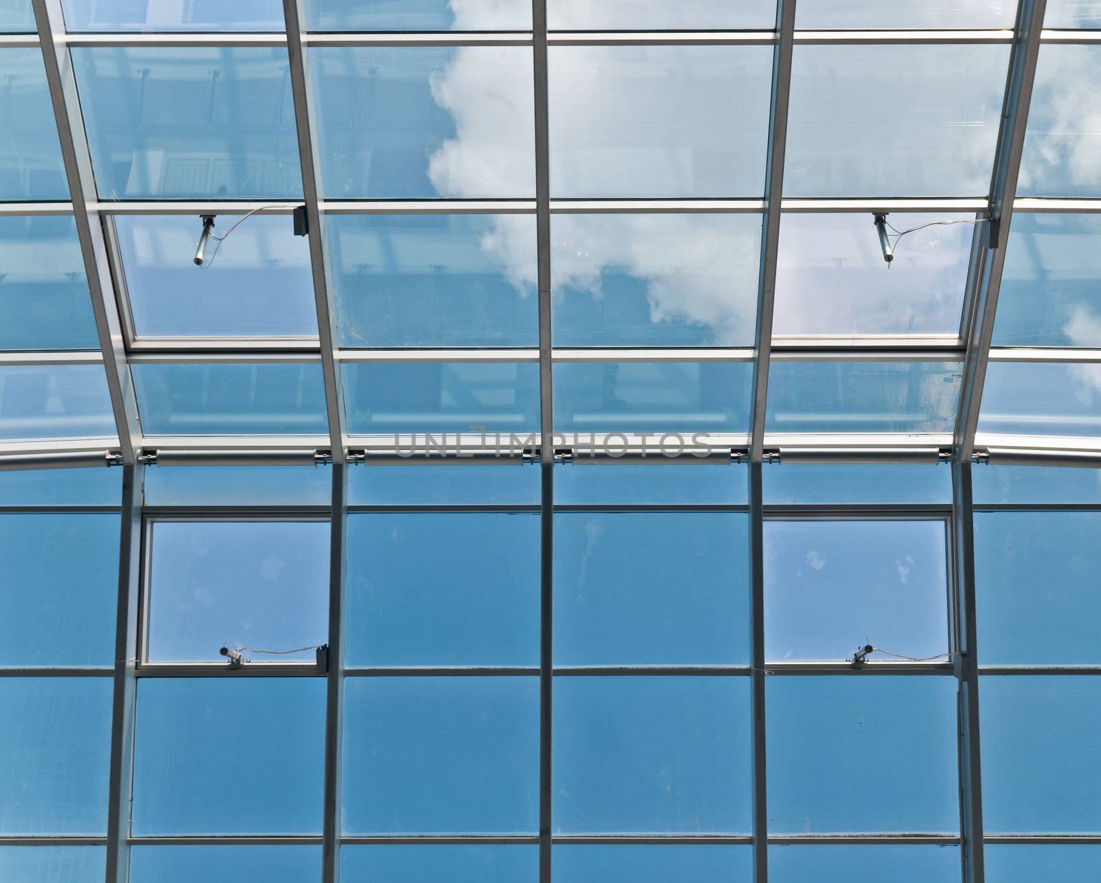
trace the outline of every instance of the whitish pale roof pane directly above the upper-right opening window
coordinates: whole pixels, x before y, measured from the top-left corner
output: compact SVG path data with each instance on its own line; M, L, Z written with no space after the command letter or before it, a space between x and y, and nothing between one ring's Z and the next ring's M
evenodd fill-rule
M797 45L784 196L985 196L1009 51Z

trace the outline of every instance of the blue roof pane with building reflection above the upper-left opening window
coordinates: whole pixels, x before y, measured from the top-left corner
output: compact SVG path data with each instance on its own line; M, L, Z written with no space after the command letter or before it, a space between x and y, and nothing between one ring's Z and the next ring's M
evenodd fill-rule
M72 55L101 198L302 198L286 50Z

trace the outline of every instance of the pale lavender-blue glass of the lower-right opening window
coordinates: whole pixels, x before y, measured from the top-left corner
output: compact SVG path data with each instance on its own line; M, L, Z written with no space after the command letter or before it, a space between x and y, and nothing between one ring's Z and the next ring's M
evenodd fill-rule
M946 549L940 520L766 522L766 658L847 659L872 644L947 662Z

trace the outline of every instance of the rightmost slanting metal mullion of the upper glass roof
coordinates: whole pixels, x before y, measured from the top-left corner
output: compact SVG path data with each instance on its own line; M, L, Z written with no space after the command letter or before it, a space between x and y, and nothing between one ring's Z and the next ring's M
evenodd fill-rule
M956 437L952 445L957 458L961 461L969 461L974 453L974 435L979 426L982 388L986 380L990 344L994 335L994 314L998 309L998 294L1005 265L1005 246L1013 219L1013 204L1017 193L1017 176L1021 171L1021 155L1024 150L1046 6L1047 0L1021 0L1017 9L1016 36L1010 55L1002 126L998 135L994 173L990 186L988 217L991 220L975 226L975 246L968 271L968 301L971 309L968 355L963 363Z

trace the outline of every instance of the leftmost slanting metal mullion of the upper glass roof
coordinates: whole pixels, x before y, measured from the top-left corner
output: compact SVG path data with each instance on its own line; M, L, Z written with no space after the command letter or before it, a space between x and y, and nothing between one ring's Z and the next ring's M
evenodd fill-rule
M107 239L99 216L91 153L85 137L84 118L77 94L76 73L64 44L65 19L61 0L33 0L39 42L45 64L46 83L61 142L65 177L73 200L80 255L91 294L91 309L103 356L103 372L110 392L111 411L122 459L133 464L141 449L141 423L133 380L127 367L126 338L115 301L115 284Z

